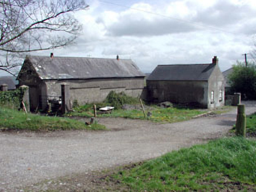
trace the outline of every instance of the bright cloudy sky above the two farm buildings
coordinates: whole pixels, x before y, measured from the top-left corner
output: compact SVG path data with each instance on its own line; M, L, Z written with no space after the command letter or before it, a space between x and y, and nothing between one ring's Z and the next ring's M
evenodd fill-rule
M90 8L75 14L83 23L78 42L36 54L103 58L119 54L149 73L158 64L211 63L213 56L224 71L256 49L255 0L86 2Z

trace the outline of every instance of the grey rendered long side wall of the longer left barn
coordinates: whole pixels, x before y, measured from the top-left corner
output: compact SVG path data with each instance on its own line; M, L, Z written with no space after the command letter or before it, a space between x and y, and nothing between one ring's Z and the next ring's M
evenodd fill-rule
M58 96L61 94L61 84L70 85L70 100L78 101L80 105L92 102L102 102L110 91L122 92L132 97L142 94L144 78L112 78L100 80L44 80L45 92L42 94Z

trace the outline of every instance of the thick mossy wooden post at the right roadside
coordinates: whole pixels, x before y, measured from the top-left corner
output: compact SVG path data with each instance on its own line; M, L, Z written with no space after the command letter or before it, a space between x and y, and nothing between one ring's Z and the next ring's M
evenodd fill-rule
M246 136L245 105L237 105L237 122L235 124L235 135Z

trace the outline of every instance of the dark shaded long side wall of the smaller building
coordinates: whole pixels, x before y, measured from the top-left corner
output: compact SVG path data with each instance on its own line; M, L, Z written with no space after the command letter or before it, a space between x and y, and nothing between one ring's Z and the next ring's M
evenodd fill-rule
M147 80L149 102L170 101L178 104L208 105L207 81L153 81Z

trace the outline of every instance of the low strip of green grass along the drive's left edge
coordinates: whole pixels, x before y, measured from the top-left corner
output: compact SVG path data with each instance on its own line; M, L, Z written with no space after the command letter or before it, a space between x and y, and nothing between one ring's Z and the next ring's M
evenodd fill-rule
M103 130L104 125L93 124L86 126L84 122L69 118L25 114L14 109L0 108L0 129L53 131L53 130Z

